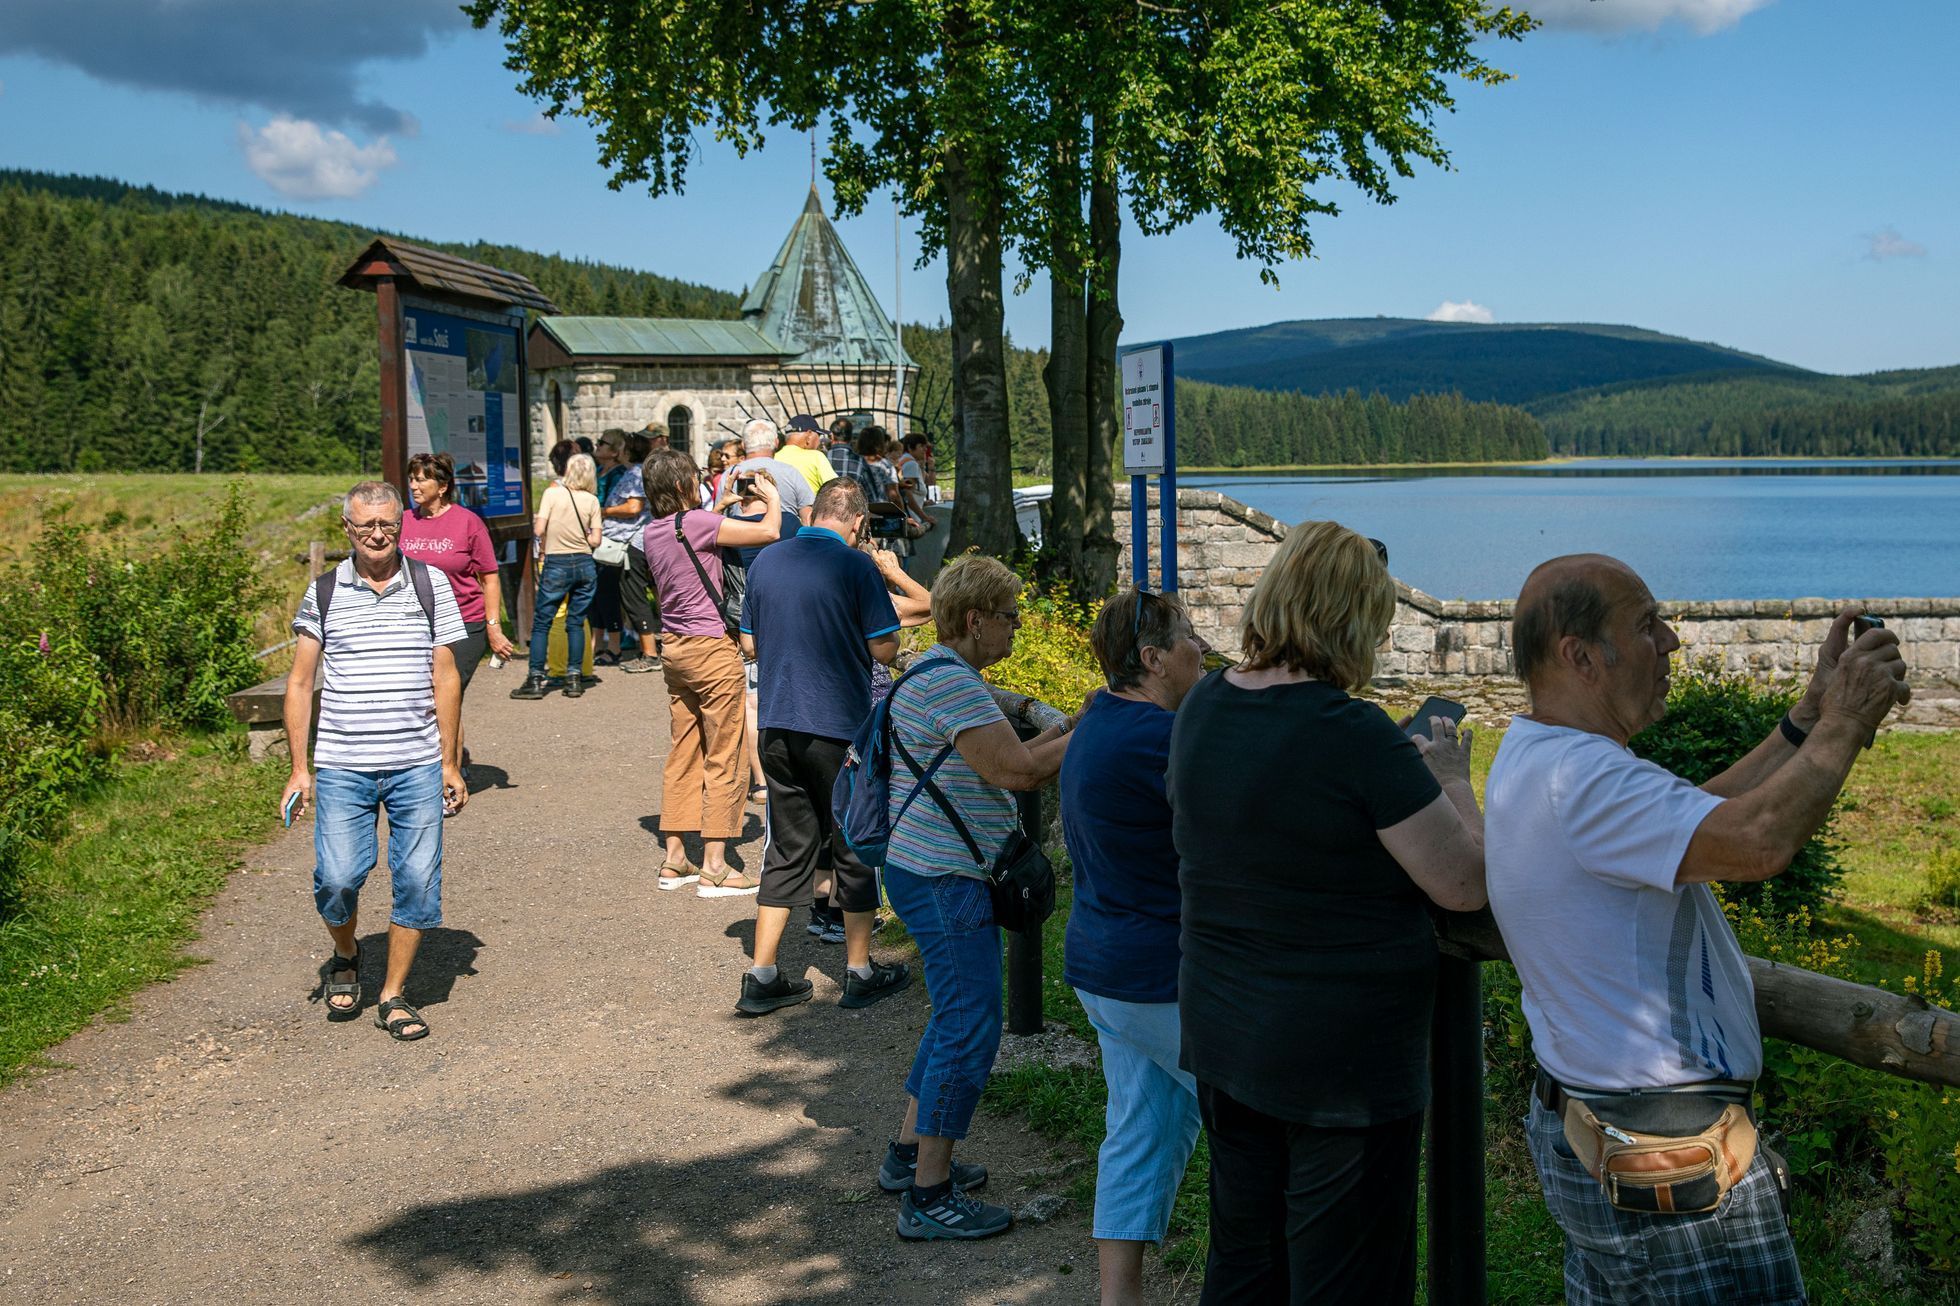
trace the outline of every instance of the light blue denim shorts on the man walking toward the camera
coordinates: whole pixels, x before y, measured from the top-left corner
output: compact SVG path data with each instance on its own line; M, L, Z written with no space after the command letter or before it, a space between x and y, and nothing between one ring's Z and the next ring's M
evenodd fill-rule
M314 775L314 906L345 926L374 869L376 818L388 812L394 914L408 929L443 924L443 765Z

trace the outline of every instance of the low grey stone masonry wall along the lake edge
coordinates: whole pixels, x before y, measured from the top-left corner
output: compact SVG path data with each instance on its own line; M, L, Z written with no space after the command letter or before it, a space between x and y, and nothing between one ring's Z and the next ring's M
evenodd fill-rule
M1156 557L1156 494L1151 551ZM1129 584L1129 508L1115 514L1123 543L1119 582ZM1286 524L1217 490L1178 490L1178 592L1198 633L1239 653L1239 618L1260 571L1286 539ZM1511 661L1511 600L1441 600L1396 582L1396 620L1376 665L1388 700L1441 692L1499 718L1523 708ZM1807 675L1844 600L1674 600L1660 612L1682 637L1682 655L1764 680ZM1899 633L1913 669L1913 702L1895 724L1960 728L1960 598L1870 598L1866 612ZM1482 708L1482 710L1478 710Z

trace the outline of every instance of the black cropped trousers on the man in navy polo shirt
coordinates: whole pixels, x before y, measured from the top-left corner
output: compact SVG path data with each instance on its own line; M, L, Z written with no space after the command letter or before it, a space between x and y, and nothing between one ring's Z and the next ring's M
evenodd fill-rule
M817 861L831 853L831 906L878 910L878 877L851 851L831 820L831 788L843 771L849 739L802 729L762 728L762 779L768 782L768 851L762 855L762 906L809 906Z

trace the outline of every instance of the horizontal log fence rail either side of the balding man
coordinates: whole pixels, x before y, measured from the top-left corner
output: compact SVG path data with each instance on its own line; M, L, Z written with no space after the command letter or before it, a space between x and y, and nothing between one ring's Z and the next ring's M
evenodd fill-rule
M1441 912L1443 951L1470 961L1509 961L1490 908ZM1748 959L1756 984L1756 1020L1764 1037L1827 1051L1833 1057L1901 1079L1960 1088L1960 1016L1929 1006L1919 994L1897 994Z

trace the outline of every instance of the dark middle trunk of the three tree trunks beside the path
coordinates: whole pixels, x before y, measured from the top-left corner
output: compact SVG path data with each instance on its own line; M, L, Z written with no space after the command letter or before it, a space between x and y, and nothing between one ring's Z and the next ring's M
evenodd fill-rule
M1049 169L1049 365L1041 380L1049 388L1051 471L1054 494L1049 498L1049 575L1076 590L1080 598L1102 596L1107 586L1084 584L1082 543L1086 535L1086 492L1090 453L1088 408L1088 308L1078 229L1082 222L1080 114L1054 104L1054 122L1064 139L1054 145Z

